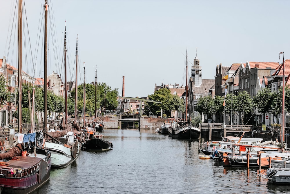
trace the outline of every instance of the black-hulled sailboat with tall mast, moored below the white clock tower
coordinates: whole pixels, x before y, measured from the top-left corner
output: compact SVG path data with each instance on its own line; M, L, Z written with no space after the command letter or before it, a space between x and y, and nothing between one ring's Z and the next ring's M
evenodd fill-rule
M188 65L187 65L187 48L186 48L186 87L185 87L185 92L186 92L186 105L185 105L185 122L179 122L177 120L177 124L176 125L171 125L168 127L168 134L169 136L171 136L172 138L177 138L177 139L198 139L200 137L200 129L193 127L192 123L191 123L191 108L189 111L189 121L187 120L187 108L188 106L190 106L190 104L188 103L188 78L187 78L187 74L188 74ZM190 84L191 86L191 84ZM192 88L190 87L191 91ZM192 92L190 92L191 94ZM193 98L192 95L190 95L190 98ZM192 102L192 101L190 101Z

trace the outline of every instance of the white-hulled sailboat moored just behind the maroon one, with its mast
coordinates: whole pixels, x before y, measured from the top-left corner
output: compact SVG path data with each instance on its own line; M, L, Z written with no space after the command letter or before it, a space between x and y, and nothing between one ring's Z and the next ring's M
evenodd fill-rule
M64 82L66 81L66 26L64 27ZM46 68L44 68L46 69ZM46 83L46 82L45 82ZM46 88L46 87L45 87ZM64 168L70 165L79 154L80 144L72 131L72 126L68 126L67 109L67 84L64 84L65 91L65 117L62 121L62 131L48 131L45 134L48 138L45 146L51 152L52 168Z

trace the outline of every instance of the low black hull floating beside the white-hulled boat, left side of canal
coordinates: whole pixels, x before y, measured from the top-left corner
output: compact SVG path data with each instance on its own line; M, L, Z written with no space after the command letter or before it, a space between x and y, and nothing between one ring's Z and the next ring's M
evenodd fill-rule
M97 151L106 151L113 149L112 142L108 142L107 140L103 140L101 138L93 138L87 140L83 144L84 150L97 150Z

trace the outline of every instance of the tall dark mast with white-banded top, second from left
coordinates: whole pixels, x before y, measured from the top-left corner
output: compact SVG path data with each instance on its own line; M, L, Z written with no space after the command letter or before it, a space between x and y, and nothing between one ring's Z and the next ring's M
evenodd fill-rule
M44 84L43 84L43 95L44 95L44 108L43 108L43 127L44 131L47 131L47 11L48 11L48 0L45 1L44 5Z

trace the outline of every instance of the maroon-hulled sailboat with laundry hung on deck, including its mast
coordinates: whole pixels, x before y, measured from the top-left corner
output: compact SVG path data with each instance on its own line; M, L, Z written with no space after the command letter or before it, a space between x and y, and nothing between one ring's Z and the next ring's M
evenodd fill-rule
M48 5L45 6L47 16ZM43 147L42 130L22 134L22 1L18 7L18 141L0 154L0 192L30 193L50 176L51 154Z

